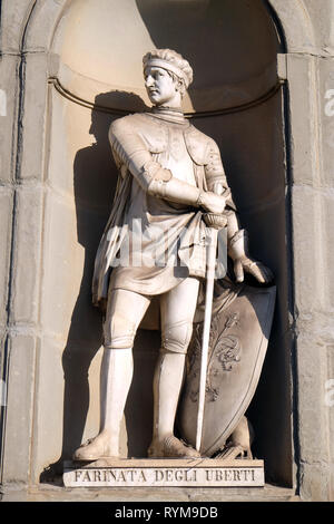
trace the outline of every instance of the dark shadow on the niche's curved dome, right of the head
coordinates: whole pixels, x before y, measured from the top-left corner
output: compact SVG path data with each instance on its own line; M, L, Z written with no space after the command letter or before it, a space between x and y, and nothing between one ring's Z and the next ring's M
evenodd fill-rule
M263 0L136 4L154 46L175 49L191 65L195 110L243 104L274 85L279 42Z

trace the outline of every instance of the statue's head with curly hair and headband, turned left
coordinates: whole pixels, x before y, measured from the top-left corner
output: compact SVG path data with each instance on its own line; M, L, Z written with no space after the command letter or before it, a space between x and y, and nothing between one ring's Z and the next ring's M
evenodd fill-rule
M193 81L189 62L171 49L155 49L143 58L145 86L154 105L181 99Z

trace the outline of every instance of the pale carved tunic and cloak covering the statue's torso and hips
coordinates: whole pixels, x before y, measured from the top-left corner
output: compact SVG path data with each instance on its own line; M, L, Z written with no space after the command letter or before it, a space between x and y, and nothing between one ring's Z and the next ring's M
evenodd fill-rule
M146 162L153 161L170 169L173 176L200 191L212 191L213 185L219 182L228 195L227 205L234 210L216 143L189 124L181 113L168 111L119 118L110 127L109 139L119 178L96 255L94 304L99 305L107 298L109 285L154 295L168 291L187 276L205 278L202 212L194 206L149 195L143 187L141 171L134 166L131 158L140 152ZM129 242L129 237L135 239L135 223L139 224L137 233L144 239L140 253L144 264L134 266L130 262L125 266L119 263L118 255L125 242ZM131 242L128 245L132 255ZM145 259L149 259L153 252L163 256L166 263L146 266ZM170 253L177 260L170 262ZM179 264L181 270L177 271L175 265ZM222 288L220 282L216 299L222 299L224 291L224 297L230 302L238 288L232 282Z

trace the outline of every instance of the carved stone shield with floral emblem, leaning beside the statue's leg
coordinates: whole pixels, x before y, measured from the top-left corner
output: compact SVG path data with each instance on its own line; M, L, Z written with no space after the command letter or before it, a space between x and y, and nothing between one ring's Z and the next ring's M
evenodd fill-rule
M202 456L224 448L255 394L275 308L276 288L245 285L222 311L214 313L203 421ZM203 322L194 324L187 373L178 409L180 437L195 447Z

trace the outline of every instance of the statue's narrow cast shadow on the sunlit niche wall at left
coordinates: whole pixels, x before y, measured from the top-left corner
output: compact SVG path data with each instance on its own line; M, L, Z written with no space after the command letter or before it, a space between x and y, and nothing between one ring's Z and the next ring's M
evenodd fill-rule
M63 460L80 446L89 408L88 373L91 360L102 343L102 316L91 303L91 279L98 244L111 210L117 169L108 142L110 124L118 116L108 107L146 110L144 101L124 91L102 93L95 98L89 134L95 143L76 154L73 187L78 242L85 249L81 285L71 316L62 353L65 376L62 449L59 459L40 475L41 483L56 482L62 474ZM105 108L104 111L99 108Z

